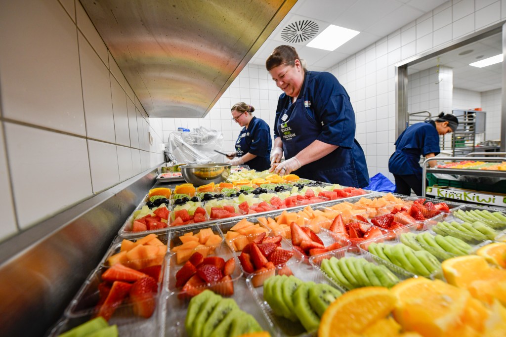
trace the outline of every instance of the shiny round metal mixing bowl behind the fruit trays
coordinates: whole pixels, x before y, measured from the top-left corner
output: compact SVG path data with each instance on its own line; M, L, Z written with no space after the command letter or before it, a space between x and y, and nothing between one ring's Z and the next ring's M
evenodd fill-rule
M180 166L181 174L187 183L201 186L221 183L230 176L230 163L188 164Z

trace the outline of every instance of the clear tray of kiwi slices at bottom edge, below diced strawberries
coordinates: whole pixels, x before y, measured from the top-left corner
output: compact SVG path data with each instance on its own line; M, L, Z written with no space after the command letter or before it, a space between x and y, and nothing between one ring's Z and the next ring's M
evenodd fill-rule
M260 331L276 335L272 321L263 314L243 278L234 281L233 294L210 289L174 291L163 305L161 330L166 337L222 337Z

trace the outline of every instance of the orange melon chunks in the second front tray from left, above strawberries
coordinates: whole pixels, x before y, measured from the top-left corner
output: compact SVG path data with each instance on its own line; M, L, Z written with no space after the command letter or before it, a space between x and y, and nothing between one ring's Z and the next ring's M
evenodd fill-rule
M204 258L215 254L223 242L223 236L217 226L197 226L174 230L170 234L169 253L171 260L183 265L198 251Z

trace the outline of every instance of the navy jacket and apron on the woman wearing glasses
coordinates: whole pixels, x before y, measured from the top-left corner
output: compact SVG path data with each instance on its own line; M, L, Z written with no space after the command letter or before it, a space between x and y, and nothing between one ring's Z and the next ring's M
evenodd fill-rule
M272 148L270 133L269 125L257 117L251 118L247 129L246 127L242 128L235 142L235 150L238 157L248 152L256 155L255 158L244 163L249 168L264 171L271 167L269 159Z

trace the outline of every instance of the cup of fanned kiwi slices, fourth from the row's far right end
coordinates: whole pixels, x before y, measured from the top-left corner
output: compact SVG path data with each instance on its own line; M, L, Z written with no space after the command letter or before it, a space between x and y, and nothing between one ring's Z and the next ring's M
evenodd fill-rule
M416 250L411 242L401 242L399 238L385 235L359 243L358 247L362 255L386 265L390 270L401 268L411 276L442 278L441 262L423 247Z

